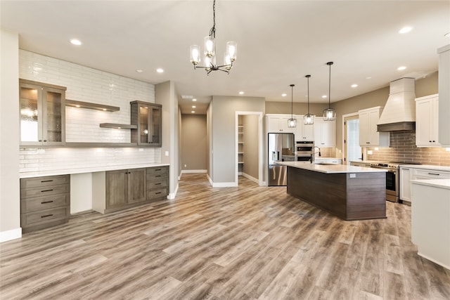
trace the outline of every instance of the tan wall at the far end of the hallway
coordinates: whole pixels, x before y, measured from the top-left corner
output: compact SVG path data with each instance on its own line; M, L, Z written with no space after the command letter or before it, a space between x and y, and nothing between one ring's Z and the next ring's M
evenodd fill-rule
M206 115L181 115L181 123L181 169L206 170Z

